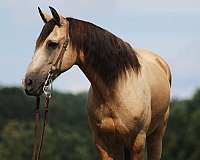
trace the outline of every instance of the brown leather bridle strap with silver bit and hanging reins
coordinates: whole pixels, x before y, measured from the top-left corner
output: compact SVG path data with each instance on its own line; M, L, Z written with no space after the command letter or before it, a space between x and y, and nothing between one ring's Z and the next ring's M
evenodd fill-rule
M65 42L63 43L62 49L55 63L50 68L47 79L43 86L43 92L45 94L45 107L44 107L44 122L43 122L42 128L40 126L40 97L39 96L36 97L35 129L34 129L35 140L34 140L33 150L32 150L32 160L40 159L40 154L41 154L42 145L44 141L45 129L48 122L48 109L49 109L49 100L52 96L52 90L53 90L53 86L52 86L53 77L56 76L56 74L58 73L58 70L59 70L57 69L58 63L60 63L58 67L61 67L62 65L62 59L67 49L67 46L68 46L68 40L66 39Z

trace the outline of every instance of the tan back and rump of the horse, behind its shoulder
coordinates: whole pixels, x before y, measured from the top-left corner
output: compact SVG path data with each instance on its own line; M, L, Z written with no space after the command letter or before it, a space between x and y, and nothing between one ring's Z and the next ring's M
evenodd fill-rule
M141 63L141 74L145 76L151 90L151 124L149 133L162 122L169 108L171 72L169 65L157 54L135 49Z

